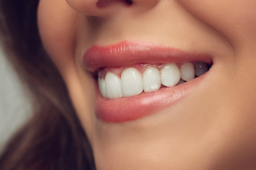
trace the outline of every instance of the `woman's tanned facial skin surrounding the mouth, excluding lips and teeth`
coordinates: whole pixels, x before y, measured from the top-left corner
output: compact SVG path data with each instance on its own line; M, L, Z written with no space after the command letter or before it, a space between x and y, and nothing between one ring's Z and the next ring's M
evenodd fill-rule
M256 1L41 0L38 26L102 169L256 168ZM92 45L154 42L213 57L198 88L169 108L125 123L95 116ZM188 61L189 62L189 61Z

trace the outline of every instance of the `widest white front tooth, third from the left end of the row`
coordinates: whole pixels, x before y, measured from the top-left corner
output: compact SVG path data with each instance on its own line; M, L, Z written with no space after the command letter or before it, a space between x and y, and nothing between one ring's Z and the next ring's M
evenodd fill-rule
M121 75L122 95L135 96L143 91L142 74L137 69L124 69Z

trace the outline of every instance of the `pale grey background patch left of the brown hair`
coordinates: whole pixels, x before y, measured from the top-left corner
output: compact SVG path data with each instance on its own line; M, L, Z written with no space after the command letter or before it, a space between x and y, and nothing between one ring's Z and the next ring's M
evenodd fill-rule
M6 141L31 116L23 87L0 48L0 153Z

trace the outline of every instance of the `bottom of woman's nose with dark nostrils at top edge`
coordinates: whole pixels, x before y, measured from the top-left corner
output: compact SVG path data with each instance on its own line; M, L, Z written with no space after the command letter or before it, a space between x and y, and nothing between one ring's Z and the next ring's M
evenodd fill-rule
M66 0L68 4L87 16L111 16L119 11L146 11L159 0Z

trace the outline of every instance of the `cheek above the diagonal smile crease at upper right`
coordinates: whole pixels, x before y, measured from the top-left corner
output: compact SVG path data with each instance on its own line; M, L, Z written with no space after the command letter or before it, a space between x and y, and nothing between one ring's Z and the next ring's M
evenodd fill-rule
M256 40L256 1L179 0L181 5L222 33L232 45ZM242 42L243 41L243 42Z

